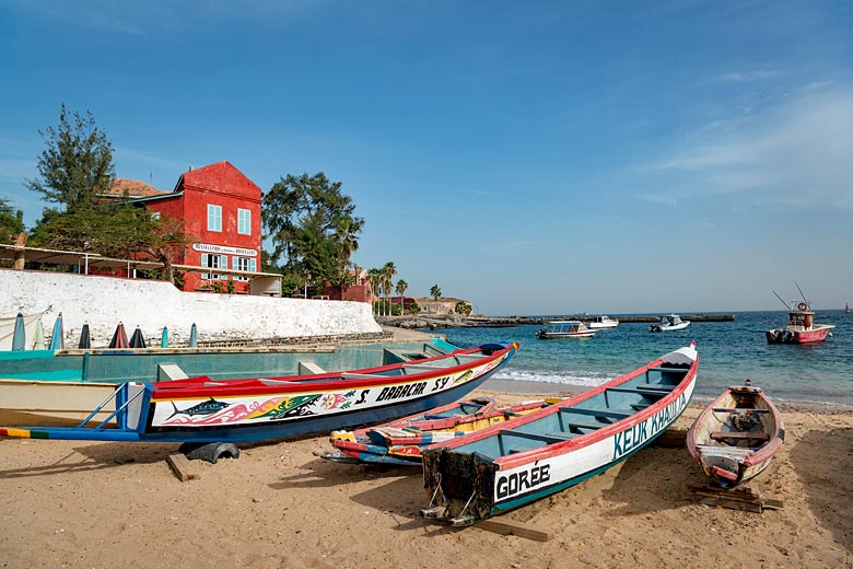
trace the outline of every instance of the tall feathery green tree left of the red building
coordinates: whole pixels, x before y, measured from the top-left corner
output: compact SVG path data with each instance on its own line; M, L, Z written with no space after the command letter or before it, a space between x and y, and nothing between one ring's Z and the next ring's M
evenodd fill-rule
M59 125L38 133L47 144L36 164L39 177L25 179L24 185L68 212L91 208L115 179L113 143L106 132L95 126L89 111L69 113L62 105Z

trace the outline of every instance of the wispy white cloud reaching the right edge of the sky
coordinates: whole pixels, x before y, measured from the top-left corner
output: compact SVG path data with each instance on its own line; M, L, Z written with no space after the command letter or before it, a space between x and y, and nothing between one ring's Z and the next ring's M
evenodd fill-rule
M644 170L682 187L753 193L766 202L853 207L853 92L808 92L738 128L694 137Z

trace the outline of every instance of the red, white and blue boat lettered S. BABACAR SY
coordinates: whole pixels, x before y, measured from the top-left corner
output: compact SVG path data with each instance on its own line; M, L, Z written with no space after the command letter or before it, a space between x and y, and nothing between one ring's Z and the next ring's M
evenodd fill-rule
M517 348L486 344L348 372L127 382L77 427L5 427L0 436L210 443L330 431L446 405L506 365ZM110 404L110 417L91 426L90 419Z

